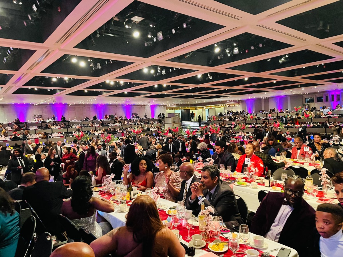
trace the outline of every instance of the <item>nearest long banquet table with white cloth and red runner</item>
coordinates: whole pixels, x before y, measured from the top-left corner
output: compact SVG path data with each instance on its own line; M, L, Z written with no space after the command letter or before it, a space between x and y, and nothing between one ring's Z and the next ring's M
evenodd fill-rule
M108 197L104 197L104 198L107 198ZM162 199L160 198L159 199L161 201L161 205L164 206L164 207L173 207L173 206L176 206L176 203L174 202L171 202L171 201L168 201L166 199ZM111 213L106 213L106 212L102 212L102 211L98 211L98 215L99 216L102 216L103 218L105 218L111 225L113 228L117 228L117 227L121 227L121 226L124 226L125 225L125 222L126 222L126 214L127 212L125 213L120 213L118 212L119 211L119 207L118 206L115 206L115 211L114 212L111 212ZM159 215L161 217L162 220L165 220L166 217L167 217L167 214L166 214L166 211L165 210L159 210ZM198 226L193 226L194 230L190 230L190 235L192 236L193 234L197 234L199 233L198 231ZM177 229L180 231L180 235L182 235L183 239L180 241L184 244L186 244L187 246L189 246L189 240L185 240L185 236L188 234L188 231L186 228L182 228L181 225L179 225L177 227ZM225 235L225 234L224 234ZM253 233L250 233L250 238L252 240L252 236L254 236L255 234ZM215 238L211 238L211 241L213 241ZM222 238L222 241L225 240L225 238ZM227 240L227 239L226 239ZM268 250L272 250L272 249L276 249L276 248L281 248L281 247L285 247L285 248L288 248L288 249L291 249L291 254L289 254L289 257L298 257L298 253L296 252L296 250L294 250L293 248L290 248L290 247L287 247L285 245L282 245L282 244L279 244L279 243L276 243L276 242L273 242L271 240L268 240L268 239L265 239L265 242L268 244L268 248L267 249L263 249L263 251L259 251L260 253L262 252L267 252ZM240 245L240 250L244 248L244 245L241 244ZM249 243L247 243L247 249L248 248L252 248L249 246ZM205 250L206 249L206 250ZM274 255L273 255L274 254ZM277 254L277 252L272 252L271 255L275 256ZM224 253L224 257L229 257L229 256L232 256L232 252L231 250L227 250L225 253ZM211 253L207 247L207 244L206 246L204 246L203 248L197 248L196 251L195 251L195 257L200 257L200 256L203 256L203 257L209 257L209 256L217 256L213 253ZM245 254L237 254L237 257L243 257L243 256L246 256Z

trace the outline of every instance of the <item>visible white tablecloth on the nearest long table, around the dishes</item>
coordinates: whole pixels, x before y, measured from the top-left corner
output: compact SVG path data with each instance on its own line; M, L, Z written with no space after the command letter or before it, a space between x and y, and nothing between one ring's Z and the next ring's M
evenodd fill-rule
M256 189L254 189L254 190L256 190ZM168 201L166 199L162 199L161 198L160 201L161 201L161 204L163 206L167 206L167 207L176 206L176 203L173 203L173 202ZM115 211L111 212L111 213L106 213L106 212L98 211L98 215L100 215L103 218L105 218L112 225L113 228L118 228L118 227L122 227L122 226L125 225L125 222L126 222L125 215L127 214L127 212L119 213L118 210L119 210L119 206L115 207ZM192 231L191 231L191 234L192 234ZM250 233L250 237L251 238L254 235L255 234ZM187 246L189 246L188 242L184 241L183 239L181 240L181 242L186 244ZM268 244L268 248L267 249L263 249L264 252L267 252L268 250L272 250L272 249L275 249L275 248L279 248L280 249L281 247L285 247L285 248L291 249L291 254L289 255L289 257L298 257L297 251L294 250L293 248L287 247L285 245L276 243L276 242L268 240L268 239L265 239L265 242ZM247 245L249 245L249 244L247 244ZM273 256L276 256L277 251L272 252L271 254ZM197 248L196 251L195 251L195 257L200 257L200 256L203 256L203 255L206 255L206 256L217 256L217 255L215 255L213 253L209 253L209 252L206 252L205 250Z

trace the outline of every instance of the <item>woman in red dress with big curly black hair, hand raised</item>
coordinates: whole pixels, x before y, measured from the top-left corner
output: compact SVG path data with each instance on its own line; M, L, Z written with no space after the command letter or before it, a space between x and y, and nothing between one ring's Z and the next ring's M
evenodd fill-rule
M125 185L132 183L132 186L137 186L137 189L145 192L146 188L152 188L154 183L154 175L152 174L152 162L146 157L137 157L131 163L131 173L128 178L129 166L124 166Z

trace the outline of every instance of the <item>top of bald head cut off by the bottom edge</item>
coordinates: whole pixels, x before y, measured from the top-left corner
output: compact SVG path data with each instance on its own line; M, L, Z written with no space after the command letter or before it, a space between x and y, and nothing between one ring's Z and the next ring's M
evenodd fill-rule
M93 249L87 245L86 243L82 242L72 242L68 244L63 244L58 247L50 257L66 257L66 256L73 256L73 257L95 257Z

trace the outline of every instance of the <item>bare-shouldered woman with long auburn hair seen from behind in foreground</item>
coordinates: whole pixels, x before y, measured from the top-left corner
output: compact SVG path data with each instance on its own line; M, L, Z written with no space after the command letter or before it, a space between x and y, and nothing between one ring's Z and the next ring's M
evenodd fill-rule
M162 224L154 200L137 197L126 215L126 225L94 240L90 246L96 257L185 256L179 240Z

